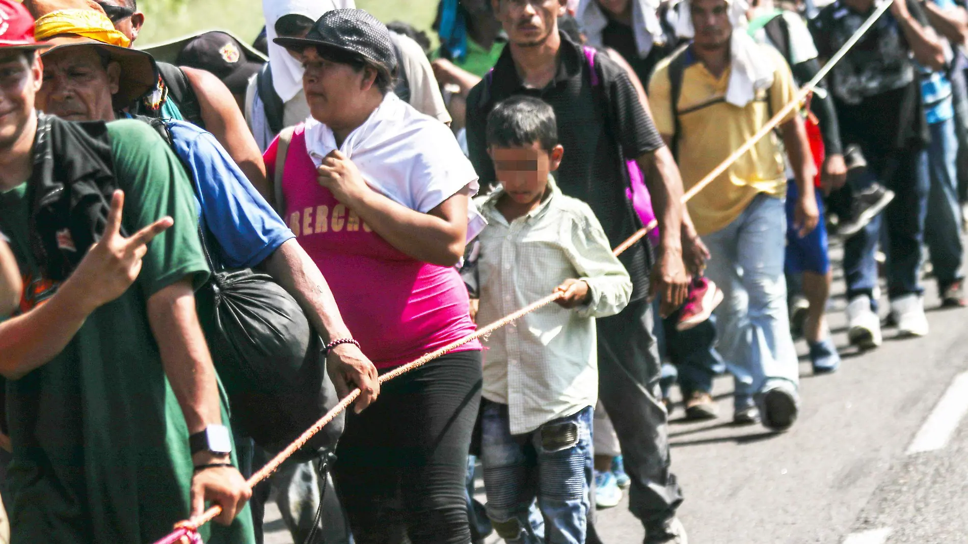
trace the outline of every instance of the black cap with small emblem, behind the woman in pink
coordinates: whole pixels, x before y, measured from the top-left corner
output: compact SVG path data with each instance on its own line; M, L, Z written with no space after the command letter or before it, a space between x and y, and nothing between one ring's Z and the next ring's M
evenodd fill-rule
M233 94L244 94L249 79L262 68L261 59L252 58L238 40L221 31L206 32L186 43L175 64L211 72Z

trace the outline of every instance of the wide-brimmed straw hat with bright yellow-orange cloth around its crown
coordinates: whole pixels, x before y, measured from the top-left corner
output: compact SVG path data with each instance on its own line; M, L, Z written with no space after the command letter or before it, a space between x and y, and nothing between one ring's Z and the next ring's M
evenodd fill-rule
M49 45L42 55L66 47L95 46L121 66L116 104L130 104L158 84L155 59L144 51L129 48L131 41L114 28L105 10L94 0L24 0L23 5L37 19L34 37Z

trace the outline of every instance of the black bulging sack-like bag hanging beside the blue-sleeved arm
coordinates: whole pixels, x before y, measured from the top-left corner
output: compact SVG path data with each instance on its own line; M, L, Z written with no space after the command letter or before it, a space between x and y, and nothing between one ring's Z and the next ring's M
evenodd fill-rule
M165 120L142 120L171 146ZM183 166L191 178L191 168ZM338 402L322 341L299 303L271 276L251 268L230 270L219 262L212 251L218 241L205 227L204 214L198 238L212 270L196 292L198 320L226 387L232 421L259 446L279 451ZM334 420L310 439L300 457L331 450L342 433L343 419Z

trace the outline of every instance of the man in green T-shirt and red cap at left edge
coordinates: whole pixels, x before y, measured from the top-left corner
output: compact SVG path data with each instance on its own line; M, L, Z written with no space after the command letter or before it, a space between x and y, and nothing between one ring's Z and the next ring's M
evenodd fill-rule
M223 515L222 525L205 529L207 541L252 543L243 508L251 491L232 466L227 407L195 312L193 286L209 271L191 185L143 123L39 114L36 49L43 45L22 6L0 0L0 11L0 228L14 241L25 283L51 287L27 294L49 297L70 281L80 258L103 240L114 189L125 192L123 231L163 216L174 221L148 244L136 284L91 313L63 350L4 369L12 379L14 461L6 484L13 541L148 542L210 501ZM90 25L91 33L119 40L107 29ZM111 58L111 78L87 74L117 85ZM86 106L111 107L102 100ZM43 304L43 296L28 297L23 308Z

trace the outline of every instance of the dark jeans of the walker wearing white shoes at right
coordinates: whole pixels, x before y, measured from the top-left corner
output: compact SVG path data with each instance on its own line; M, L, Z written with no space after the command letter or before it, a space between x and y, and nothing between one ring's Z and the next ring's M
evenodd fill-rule
M920 270L924 239L924 216L930 176L927 151L924 149L891 150L878 153L862 148L867 169L852 182L854 190L878 181L894 192L885 211L866 227L844 242L844 276L847 299L858 295L872 297L877 285L877 261L874 254L886 225L888 243L888 294L897 298L909 293L921 294ZM876 300L872 300L876 310Z

